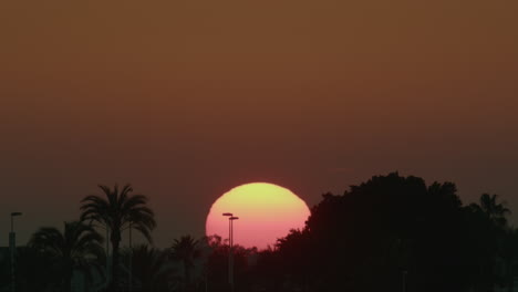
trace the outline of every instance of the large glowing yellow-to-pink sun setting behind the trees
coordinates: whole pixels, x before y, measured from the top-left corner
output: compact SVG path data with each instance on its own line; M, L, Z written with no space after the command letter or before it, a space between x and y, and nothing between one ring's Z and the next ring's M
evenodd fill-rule
M292 191L267 182L241 185L219 197L207 215L207 236L228 239L226 212L239 218L234 220L234 244L259 250L273 247L291 229L303 228L310 215L305 202Z

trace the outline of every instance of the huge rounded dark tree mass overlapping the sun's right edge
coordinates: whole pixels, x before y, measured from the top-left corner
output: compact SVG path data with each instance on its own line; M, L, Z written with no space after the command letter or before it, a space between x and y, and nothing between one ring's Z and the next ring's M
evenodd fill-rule
M469 239L454 184L392 173L324 195L279 251L307 291L463 291Z

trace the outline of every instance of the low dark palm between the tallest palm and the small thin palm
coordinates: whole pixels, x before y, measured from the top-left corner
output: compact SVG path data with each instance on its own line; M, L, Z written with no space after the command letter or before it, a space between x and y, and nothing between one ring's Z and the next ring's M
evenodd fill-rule
M125 259L132 259L132 274L136 291L164 291L174 272L173 264L168 261L166 252L146 244L126 249L123 252Z

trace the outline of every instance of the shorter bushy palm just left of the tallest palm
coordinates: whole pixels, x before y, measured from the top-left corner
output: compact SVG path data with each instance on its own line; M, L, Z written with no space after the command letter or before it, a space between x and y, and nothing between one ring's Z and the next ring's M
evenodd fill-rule
M29 247L52 259L58 274L63 277L63 291L71 291L72 274L81 271L92 280L92 270L102 274L105 260L103 238L92 227L79 221L65 222L64 232L53 227L40 228L32 234Z

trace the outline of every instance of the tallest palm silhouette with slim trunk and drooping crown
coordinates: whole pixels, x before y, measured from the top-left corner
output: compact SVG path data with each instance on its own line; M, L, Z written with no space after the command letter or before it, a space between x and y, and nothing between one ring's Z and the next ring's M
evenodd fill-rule
M100 185L103 196L86 196L81 206L81 220L100 222L110 230L112 242L112 281L110 291L116 291L120 275L121 232L126 228L139 231L148 242L152 242L151 231L156 227L154 212L149 209L147 197L131 195L133 188L125 185L121 190L115 185L113 189Z

